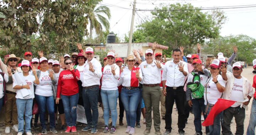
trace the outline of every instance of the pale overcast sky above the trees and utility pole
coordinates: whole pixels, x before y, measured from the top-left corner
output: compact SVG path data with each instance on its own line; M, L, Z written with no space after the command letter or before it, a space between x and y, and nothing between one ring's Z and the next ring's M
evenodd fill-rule
M154 9L161 8L166 4L187 4L191 3L194 7L219 7L219 6L241 6L254 5L255 0L137 0L137 9ZM103 0L101 5L108 5L111 10L110 31L117 34L118 37L124 39L124 35L130 31L130 23L132 18L133 0ZM118 7L117 7L118 6ZM125 9L126 8L126 9ZM220 29L221 36L245 34L256 39L256 7L240 8L240 9L222 9L225 12L227 21ZM210 12L204 10L202 12ZM150 11L138 11L135 13L134 31L136 26L149 20ZM93 33L95 35L95 32Z

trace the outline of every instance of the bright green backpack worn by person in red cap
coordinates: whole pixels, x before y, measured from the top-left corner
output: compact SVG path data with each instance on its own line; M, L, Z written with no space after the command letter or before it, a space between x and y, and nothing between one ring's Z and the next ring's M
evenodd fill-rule
M191 89L193 98L202 98L204 95L204 86L200 83L200 77L198 74L191 72L193 75L193 82L188 82L187 87Z

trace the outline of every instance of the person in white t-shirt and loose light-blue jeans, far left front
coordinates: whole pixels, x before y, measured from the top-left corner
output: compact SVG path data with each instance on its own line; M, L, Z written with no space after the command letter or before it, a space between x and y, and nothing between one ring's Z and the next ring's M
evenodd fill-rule
M22 73L15 73L21 75L21 79L25 80L25 83L21 85L21 80L16 80L14 77L13 88L17 90L16 94L16 105L18 112L18 134L22 135L24 132L24 114L25 114L25 132L27 135L32 135L30 121L32 119L32 106L34 98L34 85L39 84L39 80L36 74L36 67L32 67L33 75L29 74L30 62L28 60L23 60L21 62ZM26 96L27 95L27 96ZM24 113L25 112L25 113Z

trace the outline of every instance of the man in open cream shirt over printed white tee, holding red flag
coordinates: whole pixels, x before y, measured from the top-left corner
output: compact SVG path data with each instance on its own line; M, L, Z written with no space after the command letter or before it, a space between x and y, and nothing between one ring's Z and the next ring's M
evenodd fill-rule
M242 65L238 62L234 63L233 74L227 73L227 67L222 67L222 78L226 81L226 88L223 93L223 98L236 101L231 107L223 112L223 133L224 135L232 135L230 123L235 117L236 135L244 134L245 109L248 109L248 104L253 95L253 89L249 80L241 76Z

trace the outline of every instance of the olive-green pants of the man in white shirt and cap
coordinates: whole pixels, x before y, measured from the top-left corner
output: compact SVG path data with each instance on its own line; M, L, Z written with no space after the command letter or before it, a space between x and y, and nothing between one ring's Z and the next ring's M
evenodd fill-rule
M159 112L159 102L160 102L160 86L148 87L143 86L143 100L146 108L146 129L151 129L152 116L151 108L153 107L153 119L155 131L160 130L160 112Z

